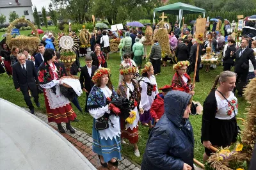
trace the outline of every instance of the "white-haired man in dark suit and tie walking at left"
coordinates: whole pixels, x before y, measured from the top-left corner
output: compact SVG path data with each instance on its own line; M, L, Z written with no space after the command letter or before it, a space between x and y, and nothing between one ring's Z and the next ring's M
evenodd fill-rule
M30 112L34 114L34 106L30 100L28 90L31 91L36 106L40 107L36 86L36 84L38 84L38 75L36 73L36 68L33 61L26 60L26 56L24 54L18 54L17 58L19 62L15 63L12 66L13 83L15 89L22 92L24 100L28 105Z

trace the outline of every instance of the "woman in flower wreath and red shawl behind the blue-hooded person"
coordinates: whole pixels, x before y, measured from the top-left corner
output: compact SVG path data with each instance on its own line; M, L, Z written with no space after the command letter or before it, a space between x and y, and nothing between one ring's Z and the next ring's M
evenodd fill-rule
M195 95L195 91L192 91L195 86L191 85L191 79L186 73L188 66L189 61L179 61L176 65L173 65L173 70L176 72L172 78L172 89ZM191 114L201 113L202 105L199 102L192 102Z

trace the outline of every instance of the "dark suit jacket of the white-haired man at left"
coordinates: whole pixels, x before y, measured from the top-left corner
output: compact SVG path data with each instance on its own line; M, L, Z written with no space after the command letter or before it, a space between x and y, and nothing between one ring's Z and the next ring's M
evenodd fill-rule
M15 89L20 90L36 89L38 84L38 75L33 61L26 60L26 74L22 70L20 63L15 63L12 66L12 76Z

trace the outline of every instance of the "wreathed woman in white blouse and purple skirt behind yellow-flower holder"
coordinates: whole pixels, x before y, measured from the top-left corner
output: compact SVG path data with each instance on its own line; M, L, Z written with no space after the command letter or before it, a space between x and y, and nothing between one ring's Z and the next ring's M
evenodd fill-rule
M142 77L140 79L141 90L141 105L144 110L144 114L140 114L140 122L143 125L151 129L151 116L150 107L158 94L156 77L154 76L154 68L150 62L147 62L144 68L141 70ZM150 132L150 129L148 132Z

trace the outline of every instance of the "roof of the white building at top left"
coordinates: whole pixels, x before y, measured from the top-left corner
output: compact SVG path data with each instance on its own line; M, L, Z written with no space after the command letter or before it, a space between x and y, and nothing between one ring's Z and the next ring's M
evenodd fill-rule
M19 7L19 6L33 6L33 4L31 0L1 0L0 1L0 8L10 8L10 7Z

